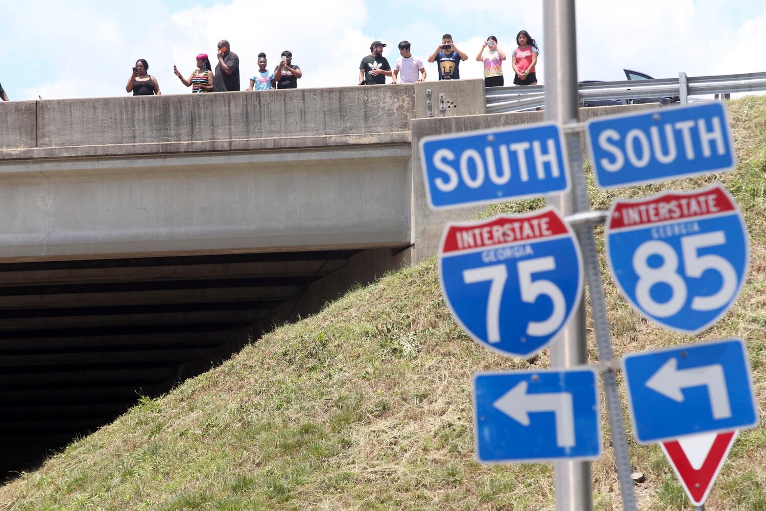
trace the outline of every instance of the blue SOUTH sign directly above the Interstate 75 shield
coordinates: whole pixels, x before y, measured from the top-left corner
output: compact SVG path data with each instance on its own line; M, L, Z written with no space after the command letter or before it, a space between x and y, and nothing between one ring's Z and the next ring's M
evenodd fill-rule
M569 188L561 131L552 123L426 136L420 146L428 205L434 209Z

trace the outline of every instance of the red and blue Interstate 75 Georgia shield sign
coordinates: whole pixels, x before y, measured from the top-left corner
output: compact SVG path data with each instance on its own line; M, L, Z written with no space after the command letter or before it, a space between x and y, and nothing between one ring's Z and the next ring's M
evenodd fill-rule
M565 326L582 294L580 247L553 208L448 224L439 277L457 323L490 349L529 357Z

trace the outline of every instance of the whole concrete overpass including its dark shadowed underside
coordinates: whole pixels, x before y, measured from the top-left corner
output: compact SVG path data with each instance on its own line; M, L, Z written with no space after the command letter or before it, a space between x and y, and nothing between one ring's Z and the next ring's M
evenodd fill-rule
M590 110L589 115L601 113ZM434 253L483 80L0 104L0 474Z

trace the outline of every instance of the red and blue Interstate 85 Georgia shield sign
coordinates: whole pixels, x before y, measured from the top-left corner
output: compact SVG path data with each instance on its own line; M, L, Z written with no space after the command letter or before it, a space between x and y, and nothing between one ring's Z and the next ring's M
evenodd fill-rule
M625 298L677 332L712 326L748 274L745 221L722 185L614 201L606 237L607 263Z

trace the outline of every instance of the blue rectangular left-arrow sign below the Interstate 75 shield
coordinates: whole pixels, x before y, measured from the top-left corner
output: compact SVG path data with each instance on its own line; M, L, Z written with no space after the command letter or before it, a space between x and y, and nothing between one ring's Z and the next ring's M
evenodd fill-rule
M482 463L601 456L592 369L477 373L473 411L476 458Z

